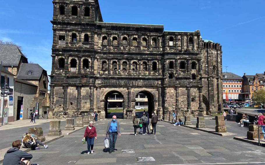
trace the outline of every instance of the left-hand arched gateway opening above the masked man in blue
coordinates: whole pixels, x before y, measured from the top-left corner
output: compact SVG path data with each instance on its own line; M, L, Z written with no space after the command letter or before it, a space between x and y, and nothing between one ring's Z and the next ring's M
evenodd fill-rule
M123 119L124 97L121 92L111 91L105 96L105 118L111 119L116 115L118 119Z

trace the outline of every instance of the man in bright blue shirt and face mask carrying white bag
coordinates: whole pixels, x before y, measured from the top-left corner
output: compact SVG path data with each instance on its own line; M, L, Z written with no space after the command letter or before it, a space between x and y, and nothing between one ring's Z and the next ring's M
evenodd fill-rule
M115 152L115 144L117 135L121 136L121 127L119 121L116 120L117 117L112 116L112 120L109 122L106 130L106 136L109 136L109 153Z

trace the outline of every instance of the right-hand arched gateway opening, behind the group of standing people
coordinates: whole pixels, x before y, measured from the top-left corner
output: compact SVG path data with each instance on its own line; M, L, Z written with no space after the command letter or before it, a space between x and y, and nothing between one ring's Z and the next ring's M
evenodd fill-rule
M147 91L139 92L135 96L135 115L137 117L142 117L143 113L148 112L149 118L152 117L152 112L154 112L153 105L153 95Z

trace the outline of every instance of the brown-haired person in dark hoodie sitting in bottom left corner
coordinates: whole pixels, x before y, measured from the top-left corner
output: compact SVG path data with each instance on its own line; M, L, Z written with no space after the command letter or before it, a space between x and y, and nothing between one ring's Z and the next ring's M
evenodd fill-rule
M16 140L12 143L12 147L10 148L3 159L3 165L30 165L30 159L32 159L32 155L28 154L22 150L19 150L21 146L21 140ZM38 165L38 164L31 164Z

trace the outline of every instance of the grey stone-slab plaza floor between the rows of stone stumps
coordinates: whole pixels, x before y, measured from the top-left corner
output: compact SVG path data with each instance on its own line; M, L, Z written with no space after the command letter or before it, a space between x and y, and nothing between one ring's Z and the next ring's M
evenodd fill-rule
M105 129L110 119L95 124L98 140L95 153L86 155L81 139L84 129L49 144L49 148L30 151L31 163L56 164L247 164L265 162L265 148L199 130L159 121L156 135L133 134L131 120L119 119L122 136L117 138L116 151L104 149Z

